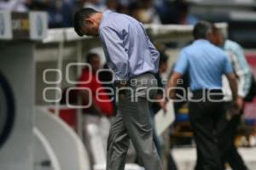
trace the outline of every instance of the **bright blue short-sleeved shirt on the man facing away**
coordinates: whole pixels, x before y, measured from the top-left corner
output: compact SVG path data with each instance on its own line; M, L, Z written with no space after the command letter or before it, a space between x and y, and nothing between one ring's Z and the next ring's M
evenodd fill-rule
M192 91L197 89L221 89L222 75L232 72L228 55L204 39L195 40L183 48L178 56L174 71L189 73Z

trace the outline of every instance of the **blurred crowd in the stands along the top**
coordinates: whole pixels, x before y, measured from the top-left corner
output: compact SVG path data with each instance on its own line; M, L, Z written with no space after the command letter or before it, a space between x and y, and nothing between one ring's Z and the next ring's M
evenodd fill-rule
M73 26L74 12L86 7L129 14L144 24L194 25L197 21L185 0L0 0L0 9L46 11L50 28Z

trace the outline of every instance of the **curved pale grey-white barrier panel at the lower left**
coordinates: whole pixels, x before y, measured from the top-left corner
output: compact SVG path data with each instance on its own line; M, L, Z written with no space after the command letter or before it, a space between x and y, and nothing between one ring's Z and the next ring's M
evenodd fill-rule
M36 108L35 125L44 134L61 170L90 170L84 144L65 122L49 111Z

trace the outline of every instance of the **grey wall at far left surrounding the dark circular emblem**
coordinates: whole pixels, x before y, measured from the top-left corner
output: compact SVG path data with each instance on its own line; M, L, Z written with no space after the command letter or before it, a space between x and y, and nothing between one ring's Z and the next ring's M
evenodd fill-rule
M15 95L15 125L0 149L1 170L32 170L34 64L32 42L0 42L0 71Z

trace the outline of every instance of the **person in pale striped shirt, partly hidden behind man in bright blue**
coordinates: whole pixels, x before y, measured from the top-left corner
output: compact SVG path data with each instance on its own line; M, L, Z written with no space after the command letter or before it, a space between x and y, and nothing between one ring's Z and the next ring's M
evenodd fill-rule
M243 54L242 48L236 42L224 39L221 31L212 25L211 42L223 48L230 56L230 63L238 77L238 99L244 105L244 98L249 92L251 84L251 71ZM232 169L247 170L240 154L236 150L235 138L236 130L241 122L241 114L235 114L232 110L232 93L226 78L223 78L225 94L225 114L222 116L220 125L223 127L222 133L218 137L218 143L222 154L222 159L230 164ZM241 111L242 112L242 111Z

